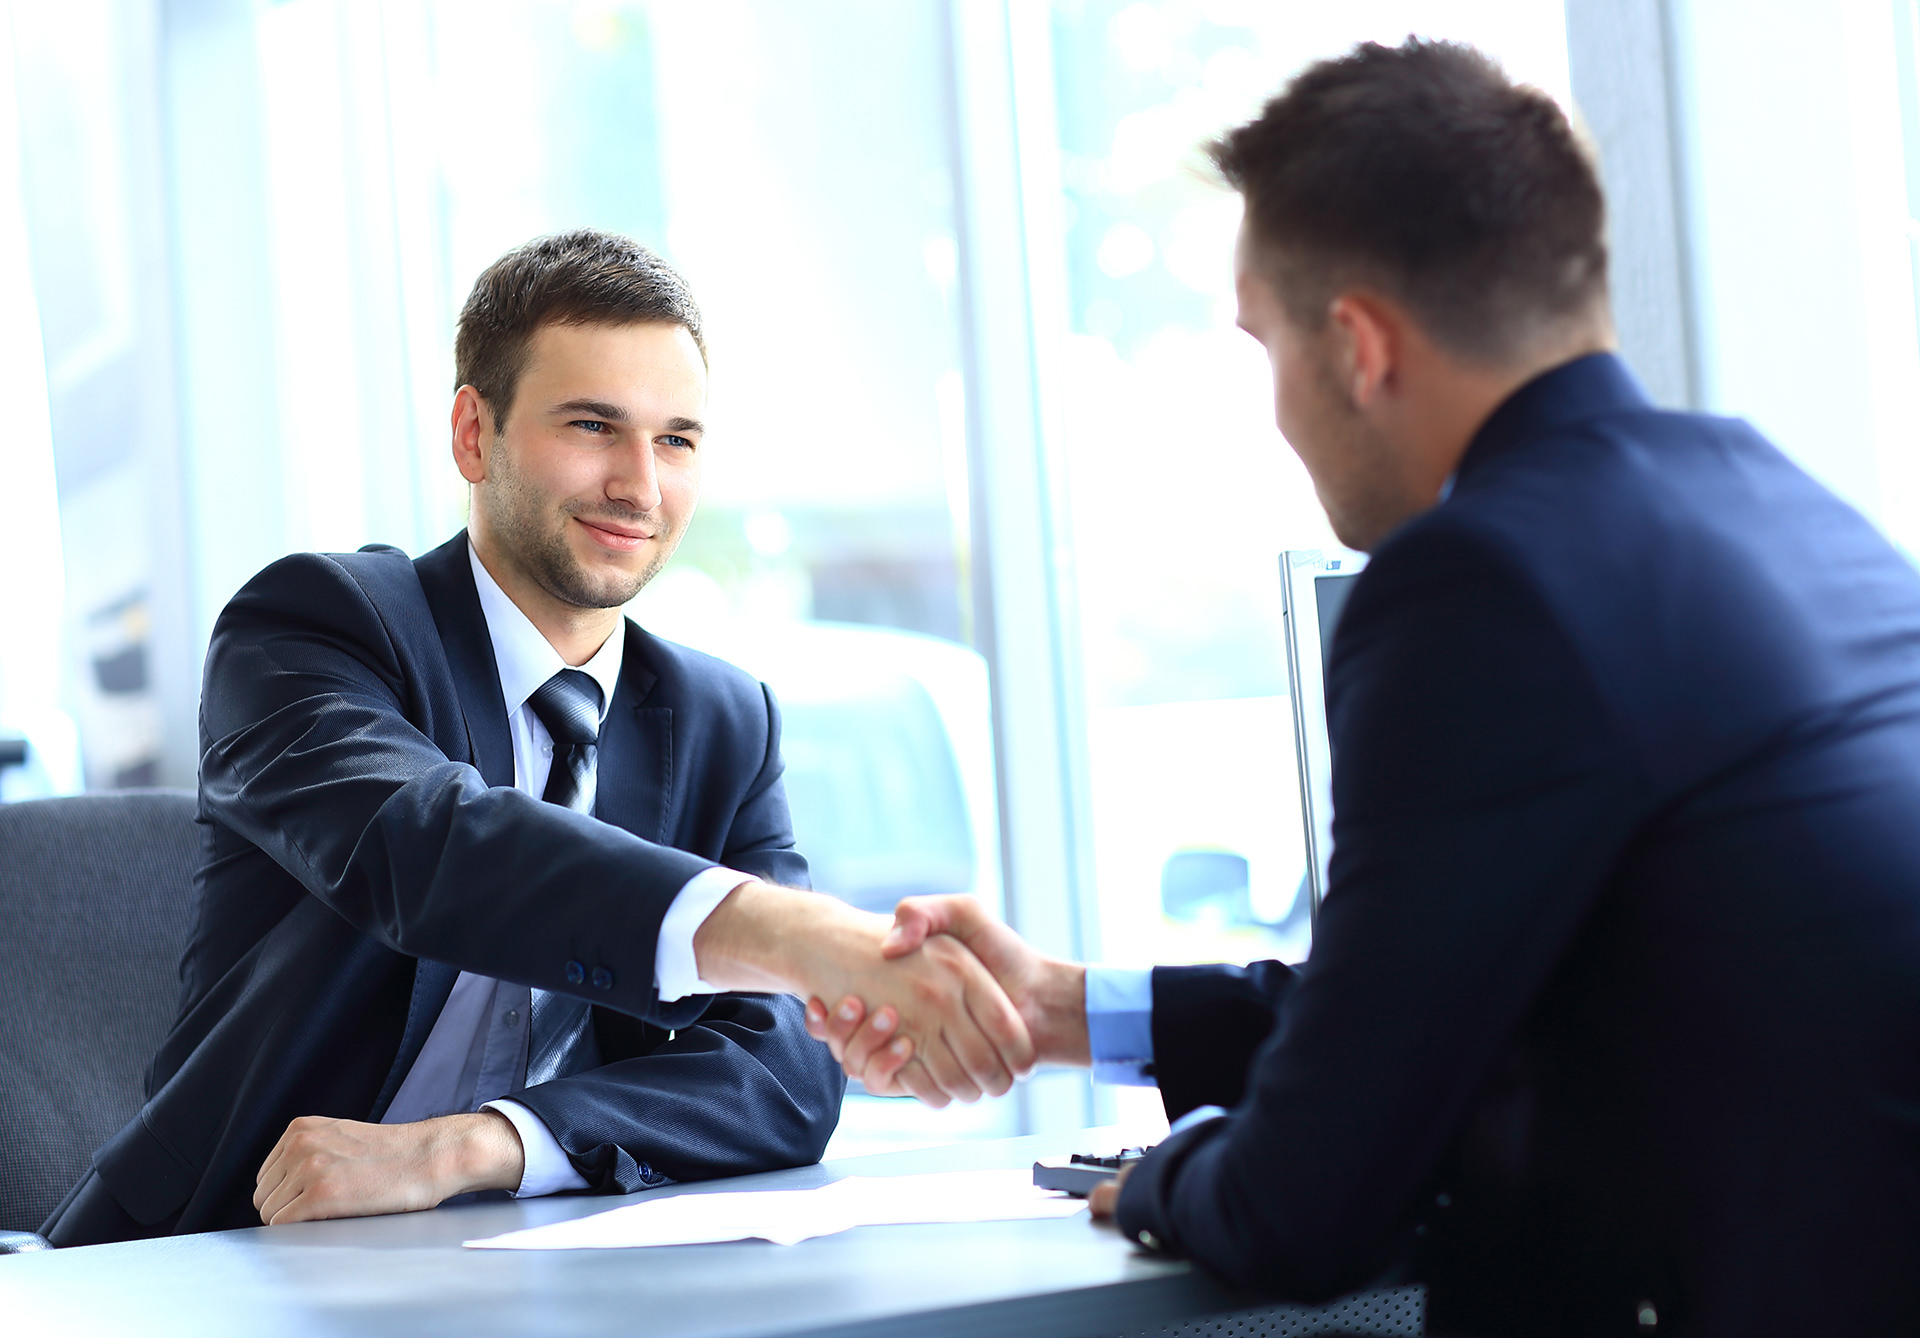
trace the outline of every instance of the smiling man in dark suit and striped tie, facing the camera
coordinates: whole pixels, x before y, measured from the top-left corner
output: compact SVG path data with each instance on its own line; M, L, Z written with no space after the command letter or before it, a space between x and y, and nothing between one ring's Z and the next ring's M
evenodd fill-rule
M282 559L213 630L179 1015L56 1244L814 1161L814 981L912 1006L935 1104L1031 1062L964 948L893 973L885 918L799 891L766 689L622 618L699 495L682 278L541 238L455 357L467 532Z

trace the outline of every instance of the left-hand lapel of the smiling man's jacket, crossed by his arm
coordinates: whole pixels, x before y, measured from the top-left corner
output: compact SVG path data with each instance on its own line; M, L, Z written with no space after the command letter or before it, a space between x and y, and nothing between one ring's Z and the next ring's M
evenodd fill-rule
M453 689L467 720L467 760L488 785L513 785L513 735L507 733L507 703L499 693L499 668L493 664L493 641L480 610L480 591L474 589L472 566L467 561L467 532L419 559L420 589L434 614L440 645L447 653ZM440 1019L461 969L445 962L420 958L413 968L413 998L407 1004L407 1025L399 1033L399 1052L388 1069L372 1119L380 1119L394 1104L394 1094L420 1058L428 1033Z

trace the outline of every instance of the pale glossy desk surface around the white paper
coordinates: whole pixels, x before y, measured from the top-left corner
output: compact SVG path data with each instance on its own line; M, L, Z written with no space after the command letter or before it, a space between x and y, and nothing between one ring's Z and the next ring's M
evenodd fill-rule
M1098 1135L1002 1138L653 1194L808 1188L843 1175L1027 1165L1106 1142ZM1135 1252L1087 1217L860 1227L797 1246L743 1240L670 1250L461 1250L461 1240L622 1202L630 1200L465 1204L12 1255L0 1259L0 1332L1096 1338L1258 1305L1185 1263Z

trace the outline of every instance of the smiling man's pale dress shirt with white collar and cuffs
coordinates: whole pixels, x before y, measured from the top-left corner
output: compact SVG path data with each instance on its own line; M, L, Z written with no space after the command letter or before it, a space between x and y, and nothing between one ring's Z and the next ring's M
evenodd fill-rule
M470 541L467 559L472 562L480 610L486 614L488 635L493 643L499 691L507 703L507 731L513 737L513 787L528 795L541 795L547 787L547 774L553 770L553 739L526 699L566 668L566 662L499 587ZM580 666L580 672L599 683L603 724L612 705L614 685L620 681L624 649L624 628L614 628L593 658ZM593 808L597 783L599 766L595 764L584 777L586 812ZM660 921L653 958L653 979L662 1002L687 994L718 992L701 979L693 962L693 933L714 906L745 881L749 881L747 873L716 866L697 873L674 896ZM530 1027L532 1019L522 1015L518 1006L509 1004L509 992L499 981L461 971L382 1123L397 1125L434 1115L497 1110L513 1121L526 1154L526 1171L515 1190L516 1198L588 1188L586 1179L574 1171L545 1121L524 1104L505 1098L505 1092L513 1090L526 1073Z

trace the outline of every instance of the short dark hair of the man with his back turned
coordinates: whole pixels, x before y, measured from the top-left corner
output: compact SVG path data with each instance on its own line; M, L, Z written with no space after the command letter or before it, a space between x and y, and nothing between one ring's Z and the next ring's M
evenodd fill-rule
M1369 284L1444 347L1503 361L1605 301L1592 157L1551 98L1471 46L1356 46L1208 152L1306 328L1342 288Z

